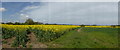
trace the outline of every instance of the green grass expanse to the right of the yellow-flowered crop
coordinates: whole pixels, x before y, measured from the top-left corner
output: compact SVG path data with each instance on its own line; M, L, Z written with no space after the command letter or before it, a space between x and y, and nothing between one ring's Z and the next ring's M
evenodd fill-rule
M117 48L117 28L82 28L47 43L49 48Z

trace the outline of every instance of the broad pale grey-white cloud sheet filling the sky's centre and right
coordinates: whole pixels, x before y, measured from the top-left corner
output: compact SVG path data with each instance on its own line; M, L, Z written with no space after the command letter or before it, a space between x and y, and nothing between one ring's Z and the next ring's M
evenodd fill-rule
M115 2L49 2L26 13L44 23L118 24L117 8Z

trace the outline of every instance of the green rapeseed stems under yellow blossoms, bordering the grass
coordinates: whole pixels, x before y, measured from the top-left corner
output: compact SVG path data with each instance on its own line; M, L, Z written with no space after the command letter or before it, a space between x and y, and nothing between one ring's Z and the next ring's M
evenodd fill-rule
M33 29L32 27L29 27L29 29L27 29L27 31L35 33L37 39L40 42L48 42L48 41L55 40L55 39L59 38L61 35L63 35L64 33L69 32L74 29L76 29L76 28L71 28L71 29L68 29L65 31L61 31L61 32L53 32L52 30L45 31L40 28Z

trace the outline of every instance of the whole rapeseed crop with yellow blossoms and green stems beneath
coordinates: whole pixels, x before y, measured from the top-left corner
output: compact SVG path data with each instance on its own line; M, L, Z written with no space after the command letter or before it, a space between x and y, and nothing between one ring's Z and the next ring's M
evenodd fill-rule
M74 25L5 25L2 24L2 38L16 37L13 47L22 45L26 47L27 34L34 33L40 42L52 41L59 38L65 32L74 30L80 26Z

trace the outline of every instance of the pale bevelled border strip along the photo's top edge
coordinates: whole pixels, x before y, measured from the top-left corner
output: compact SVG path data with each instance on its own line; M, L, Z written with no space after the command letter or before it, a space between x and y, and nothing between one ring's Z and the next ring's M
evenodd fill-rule
M1 0L2 2L119 2L119 0Z

